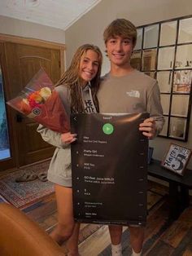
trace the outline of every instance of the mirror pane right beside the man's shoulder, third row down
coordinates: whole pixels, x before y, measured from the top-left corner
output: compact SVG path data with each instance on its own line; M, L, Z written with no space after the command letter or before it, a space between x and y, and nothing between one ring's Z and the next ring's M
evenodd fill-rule
M158 72L157 81L160 92L170 92L172 85L172 71Z

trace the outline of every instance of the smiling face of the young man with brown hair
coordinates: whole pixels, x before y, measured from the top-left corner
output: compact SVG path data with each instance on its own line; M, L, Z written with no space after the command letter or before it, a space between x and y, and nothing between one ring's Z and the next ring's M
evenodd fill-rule
M133 51L133 39L116 36L106 43L107 55L111 64L118 67L129 67Z

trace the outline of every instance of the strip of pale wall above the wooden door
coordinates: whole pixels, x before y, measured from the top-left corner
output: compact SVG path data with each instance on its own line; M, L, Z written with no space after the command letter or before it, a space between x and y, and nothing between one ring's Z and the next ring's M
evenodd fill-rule
M65 43L65 33L55 29L24 20L17 20L0 15L0 33L23 38L35 38L49 42Z

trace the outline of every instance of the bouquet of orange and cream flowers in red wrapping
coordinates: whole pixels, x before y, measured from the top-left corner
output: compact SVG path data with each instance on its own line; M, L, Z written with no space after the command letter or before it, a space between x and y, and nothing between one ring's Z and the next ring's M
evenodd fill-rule
M61 133L70 130L63 103L43 68L28 82L20 95L7 101L7 104L50 130Z

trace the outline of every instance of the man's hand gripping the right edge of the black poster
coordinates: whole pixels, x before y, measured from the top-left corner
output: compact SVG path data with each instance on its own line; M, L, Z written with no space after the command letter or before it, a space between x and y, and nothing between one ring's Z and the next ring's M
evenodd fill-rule
M153 139L156 133L156 126L154 118L146 118L140 125L139 130L142 130L142 134L148 139Z

